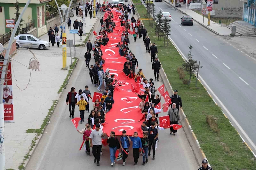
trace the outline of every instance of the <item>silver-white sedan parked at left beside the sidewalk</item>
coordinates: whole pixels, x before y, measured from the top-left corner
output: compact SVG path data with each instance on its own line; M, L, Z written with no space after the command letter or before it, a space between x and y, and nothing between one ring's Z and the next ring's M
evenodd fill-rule
M50 48L50 43L40 40L31 34L19 34L16 37L16 48L39 48L41 50Z

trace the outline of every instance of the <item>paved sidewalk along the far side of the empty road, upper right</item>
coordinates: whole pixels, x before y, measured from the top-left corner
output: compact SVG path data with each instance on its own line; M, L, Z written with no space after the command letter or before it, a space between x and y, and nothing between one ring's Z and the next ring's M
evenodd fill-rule
M185 4L181 4L181 8L177 8L175 7L175 4L173 3L169 3L168 0L163 0L165 3L170 4L172 7L174 7L175 9L181 11L182 13L191 16L196 22L198 22L199 24L201 24L202 26L206 27L207 29L211 30L212 32L221 35L221 36L230 36L231 30L225 26L220 26L219 24L213 22L212 20L210 20L210 26L207 26L208 24L208 20L207 18L204 18L204 23L203 23L203 16L196 13L195 11L192 11L189 9L188 7L188 12L186 11L186 5ZM236 33L236 36L239 36L240 34Z

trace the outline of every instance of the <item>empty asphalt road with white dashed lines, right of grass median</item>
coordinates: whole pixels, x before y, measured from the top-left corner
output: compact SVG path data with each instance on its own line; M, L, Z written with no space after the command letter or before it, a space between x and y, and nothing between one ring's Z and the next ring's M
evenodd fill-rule
M193 46L193 58L201 61L200 65L203 66L199 74L256 144L255 130L253 130L256 129L256 60L237 49L235 44L227 40L228 38L211 33L195 21L193 26L182 26L180 18L184 14L166 3L154 2L154 4L156 14L159 10L170 12L172 16L170 37L183 54L188 53L189 45ZM212 96L255 152L255 145L253 146L252 142L250 144L250 139L246 139L246 135L241 133L241 129L228 111L221 106L214 95Z

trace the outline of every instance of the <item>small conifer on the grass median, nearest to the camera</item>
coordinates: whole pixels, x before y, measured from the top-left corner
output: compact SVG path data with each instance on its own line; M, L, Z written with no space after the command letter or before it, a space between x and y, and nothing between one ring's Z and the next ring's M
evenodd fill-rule
M188 82L188 87L190 85L190 81L191 81L191 77L192 75L194 74L194 71L196 71L198 69L198 64L197 64L197 61L196 60L193 60L192 59L192 54L191 54L191 51L192 51L192 46L189 45L189 52L188 54L186 54L187 56L187 60L184 61L184 63L182 64L182 67L184 68L185 71L187 71L189 73L189 82Z

